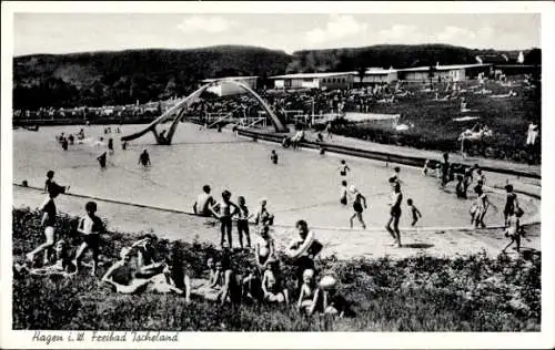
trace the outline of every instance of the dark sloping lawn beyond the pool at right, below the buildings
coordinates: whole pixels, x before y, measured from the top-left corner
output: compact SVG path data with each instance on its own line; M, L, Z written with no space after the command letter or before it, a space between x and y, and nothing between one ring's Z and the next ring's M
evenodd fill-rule
M462 89L474 85L476 82L466 82ZM440 89L440 97L444 84L434 84ZM461 147L458 135L466 128L472 128L476 122L487 125L494 135L483 142L468 144L471 156L485 156L491 158L514 162L527 162L533 155L539 162L539 144L534 150L525 150L527 128L531 120L541 127L539 96L532 90L522 86L504 87L496 82L490 82L487 89L492 94L505 94L509 89L518 95L509 99L492 99L490 95L476 95L472 92L464 94L467 109L471 112L461 113L461 100L433 101L434 92L422 92L422 86L412 86L407 90L414 95L400 97L393 104L371 105L372 113L401 114L400 123L414 124L414 127L395 132L371 123L336 123L333 131L336 134L369 140L380 143L406 145L416 148L457 152ZM455 117L480 116L480 120L456 122Z

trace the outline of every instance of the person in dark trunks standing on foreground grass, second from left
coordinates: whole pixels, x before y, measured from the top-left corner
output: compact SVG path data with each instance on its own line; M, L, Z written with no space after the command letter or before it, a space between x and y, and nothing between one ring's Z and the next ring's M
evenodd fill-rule
M78 233L83 235L83 243L79 247L73 265L79 271L81 266L81 257L88 250L92 250L92 270L91 276L97 274L97 267L99 264L99 250L100 250L100 234L104 231L104 225L100 217L97 216L97 203L88 202L84 206L87 215L79 220L79 226L77 228Z

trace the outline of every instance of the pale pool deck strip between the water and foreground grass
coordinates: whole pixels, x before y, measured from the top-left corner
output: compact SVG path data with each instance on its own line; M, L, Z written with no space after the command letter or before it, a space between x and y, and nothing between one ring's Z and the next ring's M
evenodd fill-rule
M13 186L13 206L36 208L44 198L41 191ZM88 198L61 195L58 199L58 209L71 216L82 215ZM33 205L29 205L33 204ZM183 241L204 241L213 245L220 243L220 228L212 219L192 215L142 208L98 200L99 215L108 220L110 230L141 233L153 231L162 238L181 239ZM118 213L113 215L112 213ZM486 218L487 222L487 218ZM152 223L155 223L154 225ZM309 223L316 224L316 223ZM253 230L253 229L251 229ZM402 230L402 248L394 247L393 239L383 230L362 229L314 229L316 238L324 245L322 256L335 255L341 259L349 258L379 258L389 256L394 259L417 255L436 257L452 257L485 251L497 255L508 243L503 236L503 229L477 230ZM522 241L524 250L541 250L541 225L531 225L527 235ZM234 246L238 244L236 230L233 228ZM279 248L283 248L296 234L292 228L276 226L273 236ZM254 239L255 234L251 233ZM347 238L347 239L346 239ZM507 250L509 255L516 254Z

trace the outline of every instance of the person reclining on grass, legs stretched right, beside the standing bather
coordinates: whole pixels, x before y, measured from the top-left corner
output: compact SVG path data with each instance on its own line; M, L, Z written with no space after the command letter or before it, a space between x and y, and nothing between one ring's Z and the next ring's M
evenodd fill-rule
M123 247L121 249L120 260L108 269L102 277L102 281L112 285L115 291L121 294L135 294L142 291L160 294L174 291L179 295L183 294L181 289L174 287L174 282L169 276L169 269L151 278L138 278L137 269L130 264L131 251L132 249L130 247Z

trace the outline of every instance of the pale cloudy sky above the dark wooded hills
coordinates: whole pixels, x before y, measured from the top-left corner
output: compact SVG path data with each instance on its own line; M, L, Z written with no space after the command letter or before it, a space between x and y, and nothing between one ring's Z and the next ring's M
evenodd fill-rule
M447 43L471 49L541 47L534 13L16 13L13 54L255 45L303 49Z

